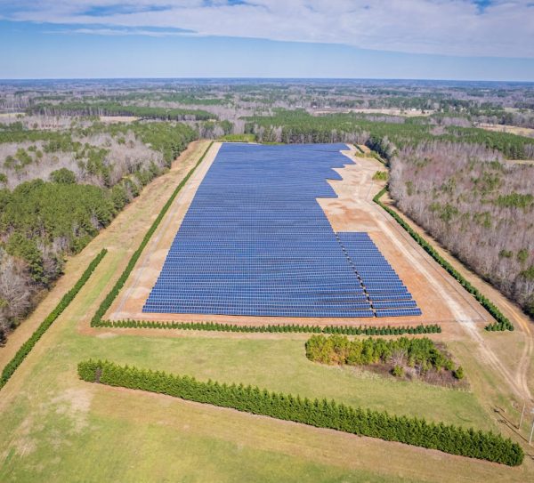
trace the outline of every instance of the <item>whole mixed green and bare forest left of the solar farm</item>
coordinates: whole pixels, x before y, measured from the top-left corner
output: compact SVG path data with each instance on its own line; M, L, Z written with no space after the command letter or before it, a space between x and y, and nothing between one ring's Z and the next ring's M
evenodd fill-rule
M197 138L187 125L0 125L0 340L142 187ZM3 186L3 188L1 188Z

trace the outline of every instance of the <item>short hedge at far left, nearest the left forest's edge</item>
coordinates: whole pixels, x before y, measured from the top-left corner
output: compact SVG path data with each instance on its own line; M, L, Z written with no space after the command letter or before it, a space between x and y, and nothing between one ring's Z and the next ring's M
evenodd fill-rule
M98 264L101 262L101 259L104 258L104 255L107 253L108 250L103 248L101 253L94 257L93 262L89 263L89 266L85 269L85 272L80 278L78 278L75 286L73 286L69 292L67 292L67 294L63 295L61 301L55 306L54 310L50 312L46 318L44 318L43 322L41 322L41 324L36 328L36 331L31 334L28 341L24 342L20 346L20 349L17 350L13 358L4 367L2 375L0 375L0 389L2 389L5 383L10 380L17 367L20 366L22 361L26 358L26 356L28 356L29 351L33 349L37 341L46 332L48 327L52 326L53 321L60 317L61 312L69 306L69 303L72 302L74 297L76 297L77 293L85 285L85 282L89 279L89 277L91 277L94 269L96 269Z

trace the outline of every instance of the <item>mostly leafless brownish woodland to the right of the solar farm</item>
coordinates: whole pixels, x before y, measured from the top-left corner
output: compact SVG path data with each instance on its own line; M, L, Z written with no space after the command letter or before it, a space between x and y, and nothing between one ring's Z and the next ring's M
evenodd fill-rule
M390 191L404 213L534 315L534 166L501 163L469 144L425 143L392 158Z

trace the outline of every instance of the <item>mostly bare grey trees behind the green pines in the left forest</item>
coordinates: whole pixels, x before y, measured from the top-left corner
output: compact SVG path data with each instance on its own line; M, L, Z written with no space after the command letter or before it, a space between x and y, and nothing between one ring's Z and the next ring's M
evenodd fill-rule
M190 126L168 122L93 123L62 130L14 123L0 129L0 173L10 188L46 179L61 167L76 173L77 181L98 186L109 188L125 177L146 184L147 176L170 166L197 137Z

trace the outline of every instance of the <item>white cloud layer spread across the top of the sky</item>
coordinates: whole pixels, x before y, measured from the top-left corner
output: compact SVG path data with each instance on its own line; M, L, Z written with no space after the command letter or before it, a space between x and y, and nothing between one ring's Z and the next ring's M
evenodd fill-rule
M534 58L531 0L0 0L0 18L76 25L70 32L80 34L175 36L182 29L392 52Z

